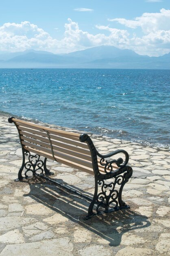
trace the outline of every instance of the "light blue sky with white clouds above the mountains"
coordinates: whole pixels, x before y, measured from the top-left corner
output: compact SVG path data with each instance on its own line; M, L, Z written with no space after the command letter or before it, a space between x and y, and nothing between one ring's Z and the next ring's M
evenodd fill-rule
M0 53L99 45L170 52L170 0L0 0Z

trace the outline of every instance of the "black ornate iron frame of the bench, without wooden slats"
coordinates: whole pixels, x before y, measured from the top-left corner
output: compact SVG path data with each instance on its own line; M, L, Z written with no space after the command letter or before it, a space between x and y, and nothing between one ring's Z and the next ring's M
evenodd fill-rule
M9 123L14 123L14 120L19 120L15 119L14 117L9 117L8 121ZM31 123L29 123L31 124ZM67 186L64 184L61 184L57 182L56 180L50 179L48 176L52 175L54 173L50 172L48 168L46 167L46 161L47 157L44 157L43 154L35 154L32 155L31 151L32 150L27 150L24 148L22 144L22 139L20 135L20 130L18 126L15 124L19 138L20 138L20 143L22 146L22 166L18 172L18 178L16 179L17 181L23 180L24 178L28 178L29 176L27 175L28 171L31 171L33 175L41 176L46 180L49 180L50 182L53 182L57 184L58 186L68 189ZM44 127L45 128L45 127ZM87 200L91 201L89 204L89 209L88 209L88 214L86 218L91 218L93 215L97 214L102 214L102 213L108 213L111 211L117 211L119 209L126 209L130 208L129 206L126 205L125 202L122 200L122 189L126 182L129 181L129 178L132 176L133 170L131 166L128 166L128 161L129 161L129 154L125 150L116 150L112 153L109 153L107 155L102 155L98 152L96 147L93 144L92 139L89 137L87 134L81 134L79 137L81 142L86 142L90 153L92 157L92 166L93 166L93 171L94 171L94 183L95 183L95 191L94 191L94 196L93 199L89 198L87 195L83 195L82 193L75 191L71 188L69 188L69 191L76 193L78 195L81 195L82 197L86 198ZM50 141L50 138L49 138ZM52 143L51 144L51 150L52 150L52 155L54 160L57 161L57 159L54 157L54 152L52 149ZM108 158L112 157L113 155L117 155L119 153L123 153L125 156L125 161L123 161L122 158L118 159L110 159L107 160ZM40 156L44 157L44 160L40 159ZM26 160L26 157L28 160ZM103 166L102 173L99 168L99 162L98 162L98 157L100 158L100 166ZM117 168L115 169L115 165ZM78 169L78 167L77 167ZM24 172L24 177L22 176L22 172ZM40 174L39 174L40 172ZM107 183L107 180L114 179L112 182ZM116 188L116 186L120 186L120 188ZM100 191L98 191L100 189ZM114 203L114 207L110 207L110 205ZM96 205L96 212L94 212L94 205ZM102 211L99 209L102 208Z

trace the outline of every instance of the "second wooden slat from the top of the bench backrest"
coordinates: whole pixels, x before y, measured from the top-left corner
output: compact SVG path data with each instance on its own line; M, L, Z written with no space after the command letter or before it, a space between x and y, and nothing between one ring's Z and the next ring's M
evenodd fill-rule
M22 134L23 131L26 131L26 132L30 132L31 134L35 134L35 135L39 135L39 136L43 136L43 137L46 137L48 138L48 135L46 132L39 132L39 131L33 131L31 129L27 129L27 128L24 128L24 130L22 130L22 127L21 126L18 126L19 130L20 130L20 134ZM74 141L72 139L69 139L69 138L64 138L64 137L59 137L57 135L50 135L50 138L51 140L53 141L53 139L55 141L61 141L61 142L64 142L66 144L71 144L71 145L74 145L74 146L78 146L78 147L81 147L81 148L84 148L84 149L87 149L89 150L89 147L87 146L86 143L83 143L81 141Z

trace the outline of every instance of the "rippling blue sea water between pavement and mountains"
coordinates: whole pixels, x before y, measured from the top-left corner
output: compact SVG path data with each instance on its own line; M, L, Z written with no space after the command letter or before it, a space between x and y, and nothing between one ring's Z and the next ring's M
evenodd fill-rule
M0 111L170 147L170 70L0 69Z

